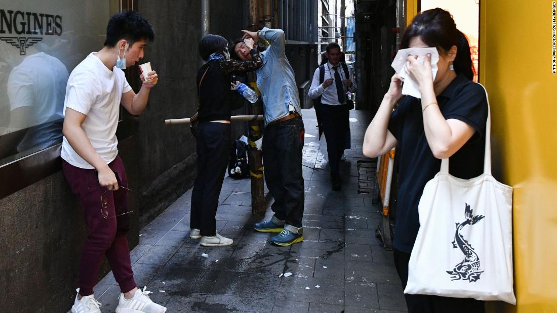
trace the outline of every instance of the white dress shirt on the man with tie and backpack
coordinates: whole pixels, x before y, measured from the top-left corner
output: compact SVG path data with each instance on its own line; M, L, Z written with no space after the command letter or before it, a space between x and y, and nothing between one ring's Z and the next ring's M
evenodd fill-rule
M331 105L331 106L344 105L344 103L346 102L339 103L339 98L338 95L336 94L335 69L333 68L333 65L330 62L327 62L325 63L324 69L325 69L325 77L323 79L323 82L325 82L328 78L333 78L333 84L327 88L324 88L323 83L321 84L319 83L319 67L317 67L315 69L313 80L311 81L311 87L308 96L310 97L310 99L315 99L321 96L321 103L325 105ZM344 72L344 68L340 64L340 62L338 63L337 70L339 71L340 79L346 80L346 73ZM350 66L348 66L348 71L350 72ZM346 91L354 92L356 90L356 82L354 81L354 76L351 75L350 73L349 75L350 75L350 81L352 82L352 87L346 87L343 84L343 90L345 92Z

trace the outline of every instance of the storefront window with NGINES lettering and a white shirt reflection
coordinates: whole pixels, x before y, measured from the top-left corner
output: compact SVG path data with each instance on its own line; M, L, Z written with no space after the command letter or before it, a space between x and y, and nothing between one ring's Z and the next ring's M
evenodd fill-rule
M110 0L0 0L0 166L62 141L72 69L102 47Z

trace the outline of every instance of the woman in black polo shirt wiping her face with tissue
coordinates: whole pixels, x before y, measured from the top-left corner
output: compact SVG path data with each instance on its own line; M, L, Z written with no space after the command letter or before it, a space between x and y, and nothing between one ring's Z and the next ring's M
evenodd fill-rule
M419 228L418 203L426 183L451 158L449 173L469 179L483 172L487 100L472 82L470 46L451 14L431 9L418 14L404 33L401 48L436 47L438 71L432 78L431 58L424 64L408 57L405 70L418 85L421 99L402 98L403 81L395 74L373 121L365 132L368 157L397 146L398 203L394 261L403 288L408 261ZM394 108L394 111L393 111ZM434 256L432 256L434 257ZM484 312L483 301L429 295L404 295L409 312Z

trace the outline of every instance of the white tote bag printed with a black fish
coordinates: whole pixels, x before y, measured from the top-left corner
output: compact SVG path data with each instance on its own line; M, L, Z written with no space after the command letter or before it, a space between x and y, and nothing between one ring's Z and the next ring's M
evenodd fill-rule
M487 92L486 92L487 97ZM419 201L420 228L408 264L405 294L516 304L512 290L512 187L491 176L487 113L483 174L449 175L449 160Z

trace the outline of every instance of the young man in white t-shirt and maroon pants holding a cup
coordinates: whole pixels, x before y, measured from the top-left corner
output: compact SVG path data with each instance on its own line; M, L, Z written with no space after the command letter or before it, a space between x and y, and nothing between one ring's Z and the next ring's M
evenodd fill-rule
M122 292L117 313L166 311L149 299L149 291L138 289L134 281L125 235L130 213L128 179L118 156L116 138L120 105L139 115L147 105L151 88L157 85L155 71L141 74L143 85L136 94L122 71L143 58L146 41L153 39L153 27L139 13L116 14L106 28L104 48L78 64L67 83L62 171L79 197L87 226L72 313L100 312L93 287L104 256Z

